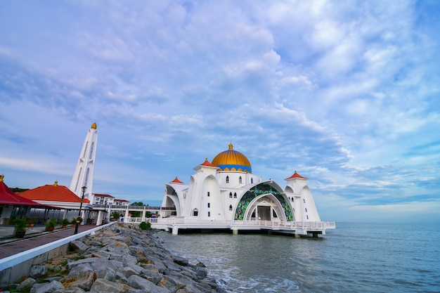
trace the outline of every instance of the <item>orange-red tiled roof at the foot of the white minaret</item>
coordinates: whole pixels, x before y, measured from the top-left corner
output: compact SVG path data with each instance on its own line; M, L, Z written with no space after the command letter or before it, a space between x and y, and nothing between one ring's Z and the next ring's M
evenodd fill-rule
M45 200L48 202L81 202L81 198L72 193L69 188L63 185L44 185L21 194L28 200ZM85 203L90 200L84 198Z

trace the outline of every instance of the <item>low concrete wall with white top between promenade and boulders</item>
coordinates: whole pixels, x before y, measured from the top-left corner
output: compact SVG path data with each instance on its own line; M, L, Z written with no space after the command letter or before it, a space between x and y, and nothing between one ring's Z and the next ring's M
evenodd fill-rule
M29 275L30 268L34 264L43 263L56 256L65 254L69 249L69 243L81 237L94 233L104 227L110 226L116 222L108 223L103 226L98 226L91 230L65 237L63 239L41 245L34 249L29 249L13 256L8 256L0 259L0 287L11 285L18 282L21 278Z

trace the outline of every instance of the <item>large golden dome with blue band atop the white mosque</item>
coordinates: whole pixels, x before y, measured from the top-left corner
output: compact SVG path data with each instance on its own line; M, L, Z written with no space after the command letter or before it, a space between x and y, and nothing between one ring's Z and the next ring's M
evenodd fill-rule
M240 171L252 173L249 159L241 152L233 150L232 143L229 143L229 150L220 152L212 159L212 164L219 167L219 171Z

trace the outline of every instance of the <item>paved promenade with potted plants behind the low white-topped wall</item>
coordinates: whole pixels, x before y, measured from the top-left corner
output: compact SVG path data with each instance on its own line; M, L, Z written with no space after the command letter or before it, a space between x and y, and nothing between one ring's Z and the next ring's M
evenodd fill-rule
M96 228L96 225L79 226L78 233ZM28 249L39 247L50 242L63 239L73 235L75 226L67 228L56 228L53 232L46 232L44 225L34 226L27 230L24 238L15 238L13 235L13 226L0 226L0 259L4 259L13 254L25 252Z

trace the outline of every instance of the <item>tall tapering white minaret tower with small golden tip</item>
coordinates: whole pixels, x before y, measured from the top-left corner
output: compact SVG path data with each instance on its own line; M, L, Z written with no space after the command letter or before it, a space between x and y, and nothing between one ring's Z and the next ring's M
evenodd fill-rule
M82 187L86 186L84 198L90 200L93 204L93 172L95 171L95 155L96 143L98 142L98 130L96 130L96 123L91 124L87 132L86 139L82 145L82 150L79 153L77 168L70 183L70 190L78 197L82 197Z

